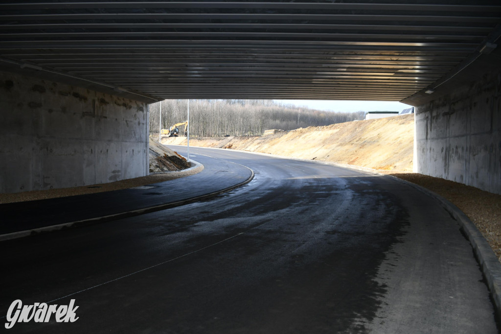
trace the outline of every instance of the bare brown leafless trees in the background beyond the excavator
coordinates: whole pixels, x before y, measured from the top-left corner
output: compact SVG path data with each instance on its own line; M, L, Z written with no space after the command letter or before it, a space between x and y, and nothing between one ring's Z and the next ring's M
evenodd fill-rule
M187 119L187 100L150 104L150 134ZM268 129L293 130L364 119L365 112L330 112L273 100L189 100L190 136L262 135ZM161 126L159 121L161 119ZM180 131L183 128L179 128Z

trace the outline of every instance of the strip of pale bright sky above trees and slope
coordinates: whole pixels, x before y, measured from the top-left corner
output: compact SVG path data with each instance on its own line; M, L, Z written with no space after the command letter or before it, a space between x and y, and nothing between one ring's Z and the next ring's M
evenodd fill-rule
M391 101L321 101L321 100L275 100L285 104L308 106L311 109L327 111L402 111L410 105Z

